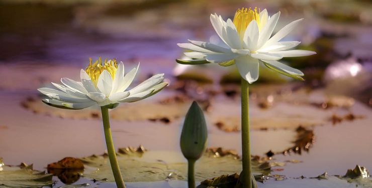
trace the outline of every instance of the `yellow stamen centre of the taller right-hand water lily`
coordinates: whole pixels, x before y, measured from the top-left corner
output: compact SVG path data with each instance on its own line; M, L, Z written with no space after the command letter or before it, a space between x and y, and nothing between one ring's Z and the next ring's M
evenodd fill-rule
M257 12L257 7L252 10L251 8L242 8L238 9L235 13L233 23L238 31L240 40L244 37L244 32L248 27L248 24L255 20L257 22L258 28L259 27L259 10Z

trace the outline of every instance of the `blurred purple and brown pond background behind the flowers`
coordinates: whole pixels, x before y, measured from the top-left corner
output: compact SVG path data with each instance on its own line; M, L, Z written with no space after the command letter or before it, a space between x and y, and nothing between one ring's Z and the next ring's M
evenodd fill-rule
M104 152L97 109L49 108L36 90L62 77L78 80L89 57L116 58L125 72L140 62L136 82L165 73L170 83L151 99L112 111L117 147L179 151L182 117L197 100L210 122L209 146L239 153L235 66L184 66L175 59L184 52L177 43L219 42L210 14L232 19L242 7L267 9L269 15L281 11L274 33L305 18L284 41L301 41L298 49L317 52L283 60L305 73L304 82L261 67L250 90L253 154L302 161L275 171L289 177L342 175L355 164L371 169L368 0L1 0L0 157L43 169L65 156Z

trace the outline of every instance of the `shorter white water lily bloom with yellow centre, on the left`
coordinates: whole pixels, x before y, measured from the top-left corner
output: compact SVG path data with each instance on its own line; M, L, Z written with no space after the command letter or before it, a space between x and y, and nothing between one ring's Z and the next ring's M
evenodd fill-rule
M164 74L156 74L138 86L126 91L132 83L137 71L133 68L124 75L124 64L116 60L101 58L94 64L90 63L85 70L80 70L81 82L62 78L63 85L52 83L57 89L39 88L42 94L49 97L42 101L50 106L65 109L83 109L92 105L116 107L119 102L135 102L154 95L168 83L163 82Z

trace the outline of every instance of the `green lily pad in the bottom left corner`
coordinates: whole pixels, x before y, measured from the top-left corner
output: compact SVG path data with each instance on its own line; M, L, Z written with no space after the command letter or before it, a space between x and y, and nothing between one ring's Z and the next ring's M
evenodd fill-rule
M0 187L41 187L50 186L52 174L45 171L34 170L31 165L22 163L18 166L9 166L0 158Z

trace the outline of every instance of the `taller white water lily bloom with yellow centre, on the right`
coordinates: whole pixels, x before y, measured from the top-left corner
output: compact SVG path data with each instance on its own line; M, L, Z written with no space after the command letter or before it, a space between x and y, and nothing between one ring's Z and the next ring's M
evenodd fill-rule
M242 8L236 11L233 21L228 19L225 22L221 16L214 14L211 15L212 26L227 47L192 40L189 40L190 43L177 45L193 51L184 53L195 59L187 62L188 64L208 61L229 66L235 63L242 78L249 83L258 79L259 62L281 74L302 79L301 76L304 74L300 70L278 62L278 60L284 57L309 56L316 53L307 50L289 50L299 45L298 41L280 42L303 19L288 24L271 37L279 16L280 12L269 17L266 9L258 13L257 8L254 10Z

